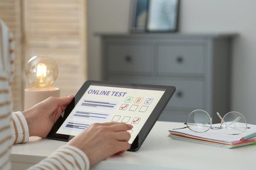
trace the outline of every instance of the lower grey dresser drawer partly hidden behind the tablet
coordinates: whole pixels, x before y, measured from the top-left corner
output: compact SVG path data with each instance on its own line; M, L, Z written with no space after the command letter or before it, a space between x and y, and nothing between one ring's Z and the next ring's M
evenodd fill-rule
M172 78L150 78L139 76L110 76L110 81L131 82L140 84L158 84L175 86L176 92L167 105L168 109L204 109L203 80Z

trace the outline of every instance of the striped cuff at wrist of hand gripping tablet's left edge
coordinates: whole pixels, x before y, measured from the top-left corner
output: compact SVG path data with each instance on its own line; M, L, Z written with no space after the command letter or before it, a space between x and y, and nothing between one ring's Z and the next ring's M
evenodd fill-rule
M26 143L30 137L28 123L22 112L13 112L11 119L12 143Z

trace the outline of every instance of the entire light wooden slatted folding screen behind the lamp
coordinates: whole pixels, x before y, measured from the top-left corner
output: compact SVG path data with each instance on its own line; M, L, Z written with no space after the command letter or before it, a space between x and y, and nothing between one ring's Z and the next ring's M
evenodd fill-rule
M75 94L87 79L86 0L1 0L0 17L14 34L14 110L22 110L24 88L31 86L24 69L32 56L58 64L53 86L60 95Z

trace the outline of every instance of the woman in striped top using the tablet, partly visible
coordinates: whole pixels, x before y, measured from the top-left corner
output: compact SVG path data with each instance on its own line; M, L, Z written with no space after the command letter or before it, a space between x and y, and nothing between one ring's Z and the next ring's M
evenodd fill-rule
M31 109L12 112L12 37L0 20L0 169L11 169L11 146L30 136L46 137L73 96L49 97ZM9 45L6 45L9 44ZM89 169L96 163L129 149L133 126L121 123L92 124L30 169Z

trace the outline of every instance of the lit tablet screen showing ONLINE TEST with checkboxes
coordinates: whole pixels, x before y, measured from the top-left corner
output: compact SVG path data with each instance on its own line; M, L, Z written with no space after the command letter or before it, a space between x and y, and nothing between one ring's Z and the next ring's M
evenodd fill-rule
M133 143L165 91L91 85L56 133L77 135L95 122L132 124Z

